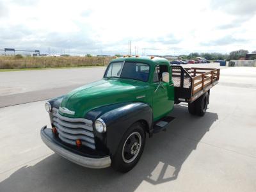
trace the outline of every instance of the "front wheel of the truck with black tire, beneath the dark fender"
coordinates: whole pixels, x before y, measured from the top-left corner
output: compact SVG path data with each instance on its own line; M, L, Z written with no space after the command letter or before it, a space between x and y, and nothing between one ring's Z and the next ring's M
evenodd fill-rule
M131 138L131 137L134 137L134 138ZM137 137L138 137L138 141L136 140ZM141 138L141 143L139 141L140 138ZM129 172L132 168L134 168L134 166L140 160L141 154L143 153L143 149L145 147L145 139L146 139L146 134L142 125L139 122L131 125L131 127L129 127L129 129L125 132L122 140L120 141L118 145L118 149L116 150L116 154L113 157L111 157L111 161L112 161L111 166L118 172L122 172L122 173ZM131 140L130 143L129 143L129 140ZM138 145L136 145L136 143L137 144L140 143L140 149L137 148ZM125 148L128 151L130 148L131 151L127 152L126 150L125 152ZM135 152L137 150L138 152ZM132 154L132 152L135 152L135 154Z

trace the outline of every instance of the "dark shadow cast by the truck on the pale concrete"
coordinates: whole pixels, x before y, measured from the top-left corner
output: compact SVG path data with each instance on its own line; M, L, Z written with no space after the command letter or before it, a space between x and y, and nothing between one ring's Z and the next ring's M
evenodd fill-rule
M170 115L176 119L166 132L147 139L143 155L131 172L83 168L52 154L12 173L0 183L0 191L134 191L143 181L157 185L175 180L218 115L191 116L184 105L176 105Z

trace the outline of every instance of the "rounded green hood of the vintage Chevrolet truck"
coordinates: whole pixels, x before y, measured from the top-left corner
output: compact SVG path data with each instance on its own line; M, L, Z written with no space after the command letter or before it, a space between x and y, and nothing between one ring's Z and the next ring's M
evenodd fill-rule
M69 92L61 102L61 108L74 111L74 115L62 113L69 117L84 117L86 113L94 108L115 104L120 102L145 100L145 89L147 84L131 79L108 79L100 80L81 86ZM141 97L137 99L136 97Z

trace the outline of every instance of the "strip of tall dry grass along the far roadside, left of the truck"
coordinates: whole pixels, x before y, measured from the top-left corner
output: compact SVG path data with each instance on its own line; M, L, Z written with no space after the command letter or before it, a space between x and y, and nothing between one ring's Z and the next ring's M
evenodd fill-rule
M0 56L0 69L102 66L108 65L111 59L111 57L86 56L36 56L22 58L17 58L15 56Z

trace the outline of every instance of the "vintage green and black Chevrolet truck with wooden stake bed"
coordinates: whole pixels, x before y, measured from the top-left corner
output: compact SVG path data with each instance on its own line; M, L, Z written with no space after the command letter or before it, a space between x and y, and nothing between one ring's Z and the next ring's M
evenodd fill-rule
M45 103L51 128L42 127L41 138L81 166L128 172L146 136L171 127L175 104L187 102L191 115L204 116L219 78L220 69L183 68L163 58L113 59L100 81Z

